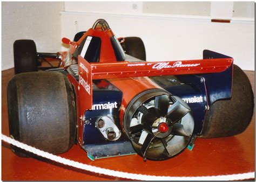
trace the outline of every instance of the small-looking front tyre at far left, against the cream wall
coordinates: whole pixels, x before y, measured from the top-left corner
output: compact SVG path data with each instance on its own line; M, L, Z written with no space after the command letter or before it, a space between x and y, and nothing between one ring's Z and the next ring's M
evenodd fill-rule
M15 74L37 71L37 51L33 40L14 42Z

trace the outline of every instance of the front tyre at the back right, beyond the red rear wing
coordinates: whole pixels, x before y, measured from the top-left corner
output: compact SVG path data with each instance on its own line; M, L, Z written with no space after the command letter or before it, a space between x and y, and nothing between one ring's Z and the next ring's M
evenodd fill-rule
M142 39L139 37L125 37L122 46L126 54L143 61L146 60L145 46Z

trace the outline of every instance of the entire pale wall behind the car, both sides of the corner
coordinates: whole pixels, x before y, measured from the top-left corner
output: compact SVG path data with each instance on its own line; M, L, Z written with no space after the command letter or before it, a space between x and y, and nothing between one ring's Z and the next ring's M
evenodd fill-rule
M211 23L211 16L202 16L211 14L208 3L177 2L181 15L167 11L173 3L154 4L154 12L146 2L2 2L2 69L14 67L16 39L35 40L38 52L57 52L65 50L62 37L72 39L104 18L116 36L141 37L149 61L200 59L202 51L210 49L234 57L242 69L254 70L252 3L235 2L233 17L239 18L231 17L231 23ZM192 13L197 6L205 8L200 16ZM183 11L187 8L191 10ZM160 14L163 9L165 14Z

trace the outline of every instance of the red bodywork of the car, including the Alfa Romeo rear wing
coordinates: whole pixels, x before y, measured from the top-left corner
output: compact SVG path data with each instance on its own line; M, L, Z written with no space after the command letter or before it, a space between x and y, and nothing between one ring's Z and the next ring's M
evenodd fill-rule
M125 108L133 96L145 89L159 88L156 83L144 76L218 73L225 71L233 63L232 58L160 62L117 62L110 40L114 36L111 29L89 29L77 43L71 43L70 53L73 53L76 47L87 36L99 37L102 41L99 62L90 64L79 55L79 81L77 82L71 75L68 75L68 79L75 86L77 95L77 138L80 145L82 145L83 139L84 113L86 110L92 108L92 80L108 79L114 86L123 91L120 111L122 125ZM62 55L65 56L66 54L64 53Z

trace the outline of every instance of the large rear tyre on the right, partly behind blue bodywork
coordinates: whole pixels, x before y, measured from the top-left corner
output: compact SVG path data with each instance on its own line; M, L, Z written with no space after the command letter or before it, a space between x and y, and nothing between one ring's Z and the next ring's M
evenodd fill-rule
M232 97L218 100L207 112L201 137L226 137L245 131L254 108L252 86L247 75L237 65L233 67Z

